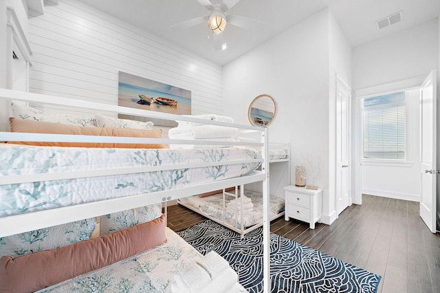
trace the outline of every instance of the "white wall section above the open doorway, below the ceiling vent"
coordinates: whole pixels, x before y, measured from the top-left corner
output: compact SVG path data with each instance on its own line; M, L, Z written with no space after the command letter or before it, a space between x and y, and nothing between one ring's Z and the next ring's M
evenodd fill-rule
M353 48L353 89L428 76L438 65L438 21Z

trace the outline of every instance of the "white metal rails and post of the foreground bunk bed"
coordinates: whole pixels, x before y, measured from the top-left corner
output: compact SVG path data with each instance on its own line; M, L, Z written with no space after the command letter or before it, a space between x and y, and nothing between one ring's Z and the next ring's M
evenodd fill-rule
M122 113L133 116L141 116L148 118L158 118L164 120L183 120L188 122L198 122L203 124L214 124L226 127L237 127L243 131L254 132L261 134L261 142L228 142L230 146L256 146L261 147L262 160L261 171L254 171L250 175L243 177L236 177L228 180L219 180L205 184L197 184L194 186L187 186L184 188L175 188L167 191L159 191L154 193L143 193L140 195L133 195L130 197L121 197L115 199L101 200L99 202L90 202L87 204L80 204L75 206L67 206L63 208L52 208L50 210L41 210L33 213L23 213L19 215L11 215L7 217L0 217L0 237L27 232L39 228L46 228L59 224L65 224L80 219L90 217L98 217L109 213L115 213L122 210L137 208L150 204L160 202L168 202L170 200L179 199L181 197L188 197L199 193L206 193L213 190L228 188L230 186L240 186L252 182L262 182L263 184L263 290L270 292L270 219L269 219L269 160L268 157L268 131L267 128L252 127L241 124L230 124L225 122L201 120L188 116L179 116L174 114L146 111L142 109L133 109L129 107L120 107L116 105L107 105L99 102L88 102L84 100L75 100L70 98L60 98L55 96L46 96L42 94L32 94L23 91L14 91L10 89L0 89L0 102L2 105L10 103L11 101L36 102L50 105L61 105L62 107L72 107L74 109L94 110L96 113ZM5 101L5 102L4 102ZM8 120L8 117L2 118L3 123ZM107 136L91 136L91 135L54 135L44 133L10 133L0 132L0 141L40 141L40 142L124 142L124 143L141 143L141 144L210 144L221 145L222 142L211 140L169 140L169 139L155 139L155 138L122 138L122 137L107 137ZM235 161L237 163L245 163L248 161ZM256 160L252 160L256 162ZM231 163L229 163L231 164ZM197 166L213 166L219 165L206 163L197 164ZM182 167L188 167L187 164L182 164ZM192 166L196 167L196 166ZM179 168L178 165L173 166L159 166L159 167L142 167L138 169L118 169L111 171L90 171L90 172L69 172L56 174L40 174L40 175L8 175L0 176L0 184L15 184L22 182L36 182L43 180L62 180L73 179L80 177L104 176L127 174L136 172L161 171L167 169Z

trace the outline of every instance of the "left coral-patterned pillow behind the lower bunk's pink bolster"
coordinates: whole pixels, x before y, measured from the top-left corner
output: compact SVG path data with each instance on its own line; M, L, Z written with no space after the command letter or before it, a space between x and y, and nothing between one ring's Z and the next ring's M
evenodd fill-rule
M90 238L96 219L85 219L49 228L42 228L8 237L0 237L0 257L18 257L41 250L50 250Z

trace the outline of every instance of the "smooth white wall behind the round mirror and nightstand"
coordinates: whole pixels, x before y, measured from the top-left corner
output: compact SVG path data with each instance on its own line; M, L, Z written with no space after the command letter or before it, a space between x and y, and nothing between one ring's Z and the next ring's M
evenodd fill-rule
M334 218L334 195L329 195L329 96L335 92L329 89L329 75L340 72L347 80L351 76L350 55L345 55L349 47L329 13L322 10L223 66L223 99L229 105L223 113L247 123L250 102L269 94L278 105L270 141L292 144L292 169L310 155L322 160L316 185L324 189L327 224Z

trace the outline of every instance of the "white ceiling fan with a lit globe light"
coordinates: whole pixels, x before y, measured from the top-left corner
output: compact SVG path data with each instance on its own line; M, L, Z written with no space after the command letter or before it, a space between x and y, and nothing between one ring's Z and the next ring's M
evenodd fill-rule
M226 43L224 41L224 30L226 24L235 25L244 29L255 29L263 27L264 23L248 17L234 15L227 13L239 0L197 0L201 6L205 7L209 14L203 17L196 17L195 19L188 19L171 25L171 27L190 28L195 25L206 23L209 25L210 37L214 40L214 49L225 49Z

